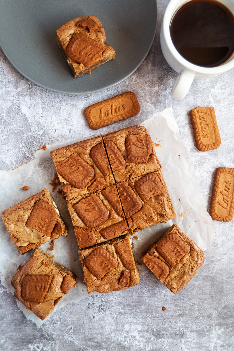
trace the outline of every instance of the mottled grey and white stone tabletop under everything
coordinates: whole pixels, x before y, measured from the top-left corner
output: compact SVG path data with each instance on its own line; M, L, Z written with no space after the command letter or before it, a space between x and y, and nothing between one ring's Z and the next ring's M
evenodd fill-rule
M168 2L158 1L157 33L146 60L128 79L102 92L63 95L47 91L22 77L0 51L0 168L10 170L27 163L44 144L100 134L88 128L84 108L130 90L136 93L141 112L102 132L140 124L172 106L209 211L215 168L234 167L234 69L210 80L194 81L182 101L170 97L176 73L165 62L159 44ZM189 111L197 106L215 108L222 140L217 150L203 153L196 148ZM215 222L217 234L205 251L203 267L176 295L149 272L139 286L71 303L38 328L1 285L0 349L233 350L233 224L234 220Z

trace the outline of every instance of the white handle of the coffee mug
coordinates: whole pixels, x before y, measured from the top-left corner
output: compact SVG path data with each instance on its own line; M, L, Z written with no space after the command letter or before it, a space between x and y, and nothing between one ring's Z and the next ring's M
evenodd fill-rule
M194 75L195 74L190 71L180 72L171 88L171 97L177 100L182 100L189 91Z

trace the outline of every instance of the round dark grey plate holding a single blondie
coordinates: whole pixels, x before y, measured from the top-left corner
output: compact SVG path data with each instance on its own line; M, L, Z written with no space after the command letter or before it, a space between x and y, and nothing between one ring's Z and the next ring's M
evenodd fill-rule
M116 56L75 79L55 31L86 15L99 18ZM0 46L11 64L37 85L66 94L93 93L126 79L146 58L156 27L157 0L3 0L0 5Z

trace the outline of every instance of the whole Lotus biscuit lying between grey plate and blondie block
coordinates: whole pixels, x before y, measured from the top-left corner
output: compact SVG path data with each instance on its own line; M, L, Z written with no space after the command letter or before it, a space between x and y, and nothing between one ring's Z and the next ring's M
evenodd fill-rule
M92 129L133 117L140 112L140 105L133 92L116 95L85 108L85 117Z

